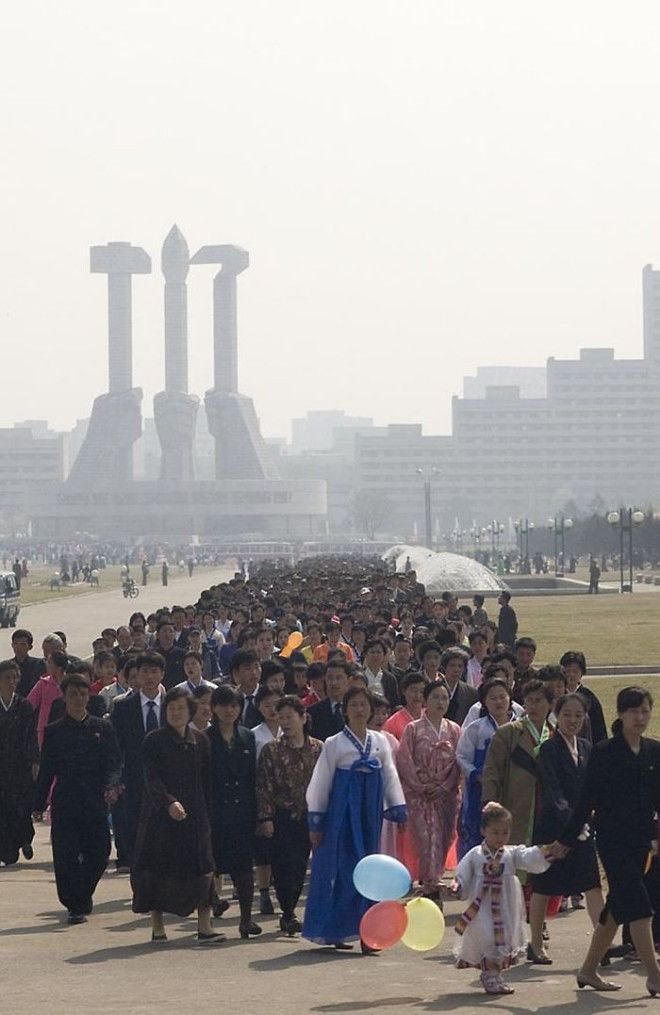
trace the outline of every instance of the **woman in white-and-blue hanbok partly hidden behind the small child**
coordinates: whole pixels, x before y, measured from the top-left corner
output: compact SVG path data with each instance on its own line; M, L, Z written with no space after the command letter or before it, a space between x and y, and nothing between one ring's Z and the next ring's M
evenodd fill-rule
M483 763L492 734L513 718L509 685L500 677L484 680L479 687L479 700L481 718L464 727L456 748L456 760L465 780L458 826L459 860L473 847L480 845L483 838L480 830Z

